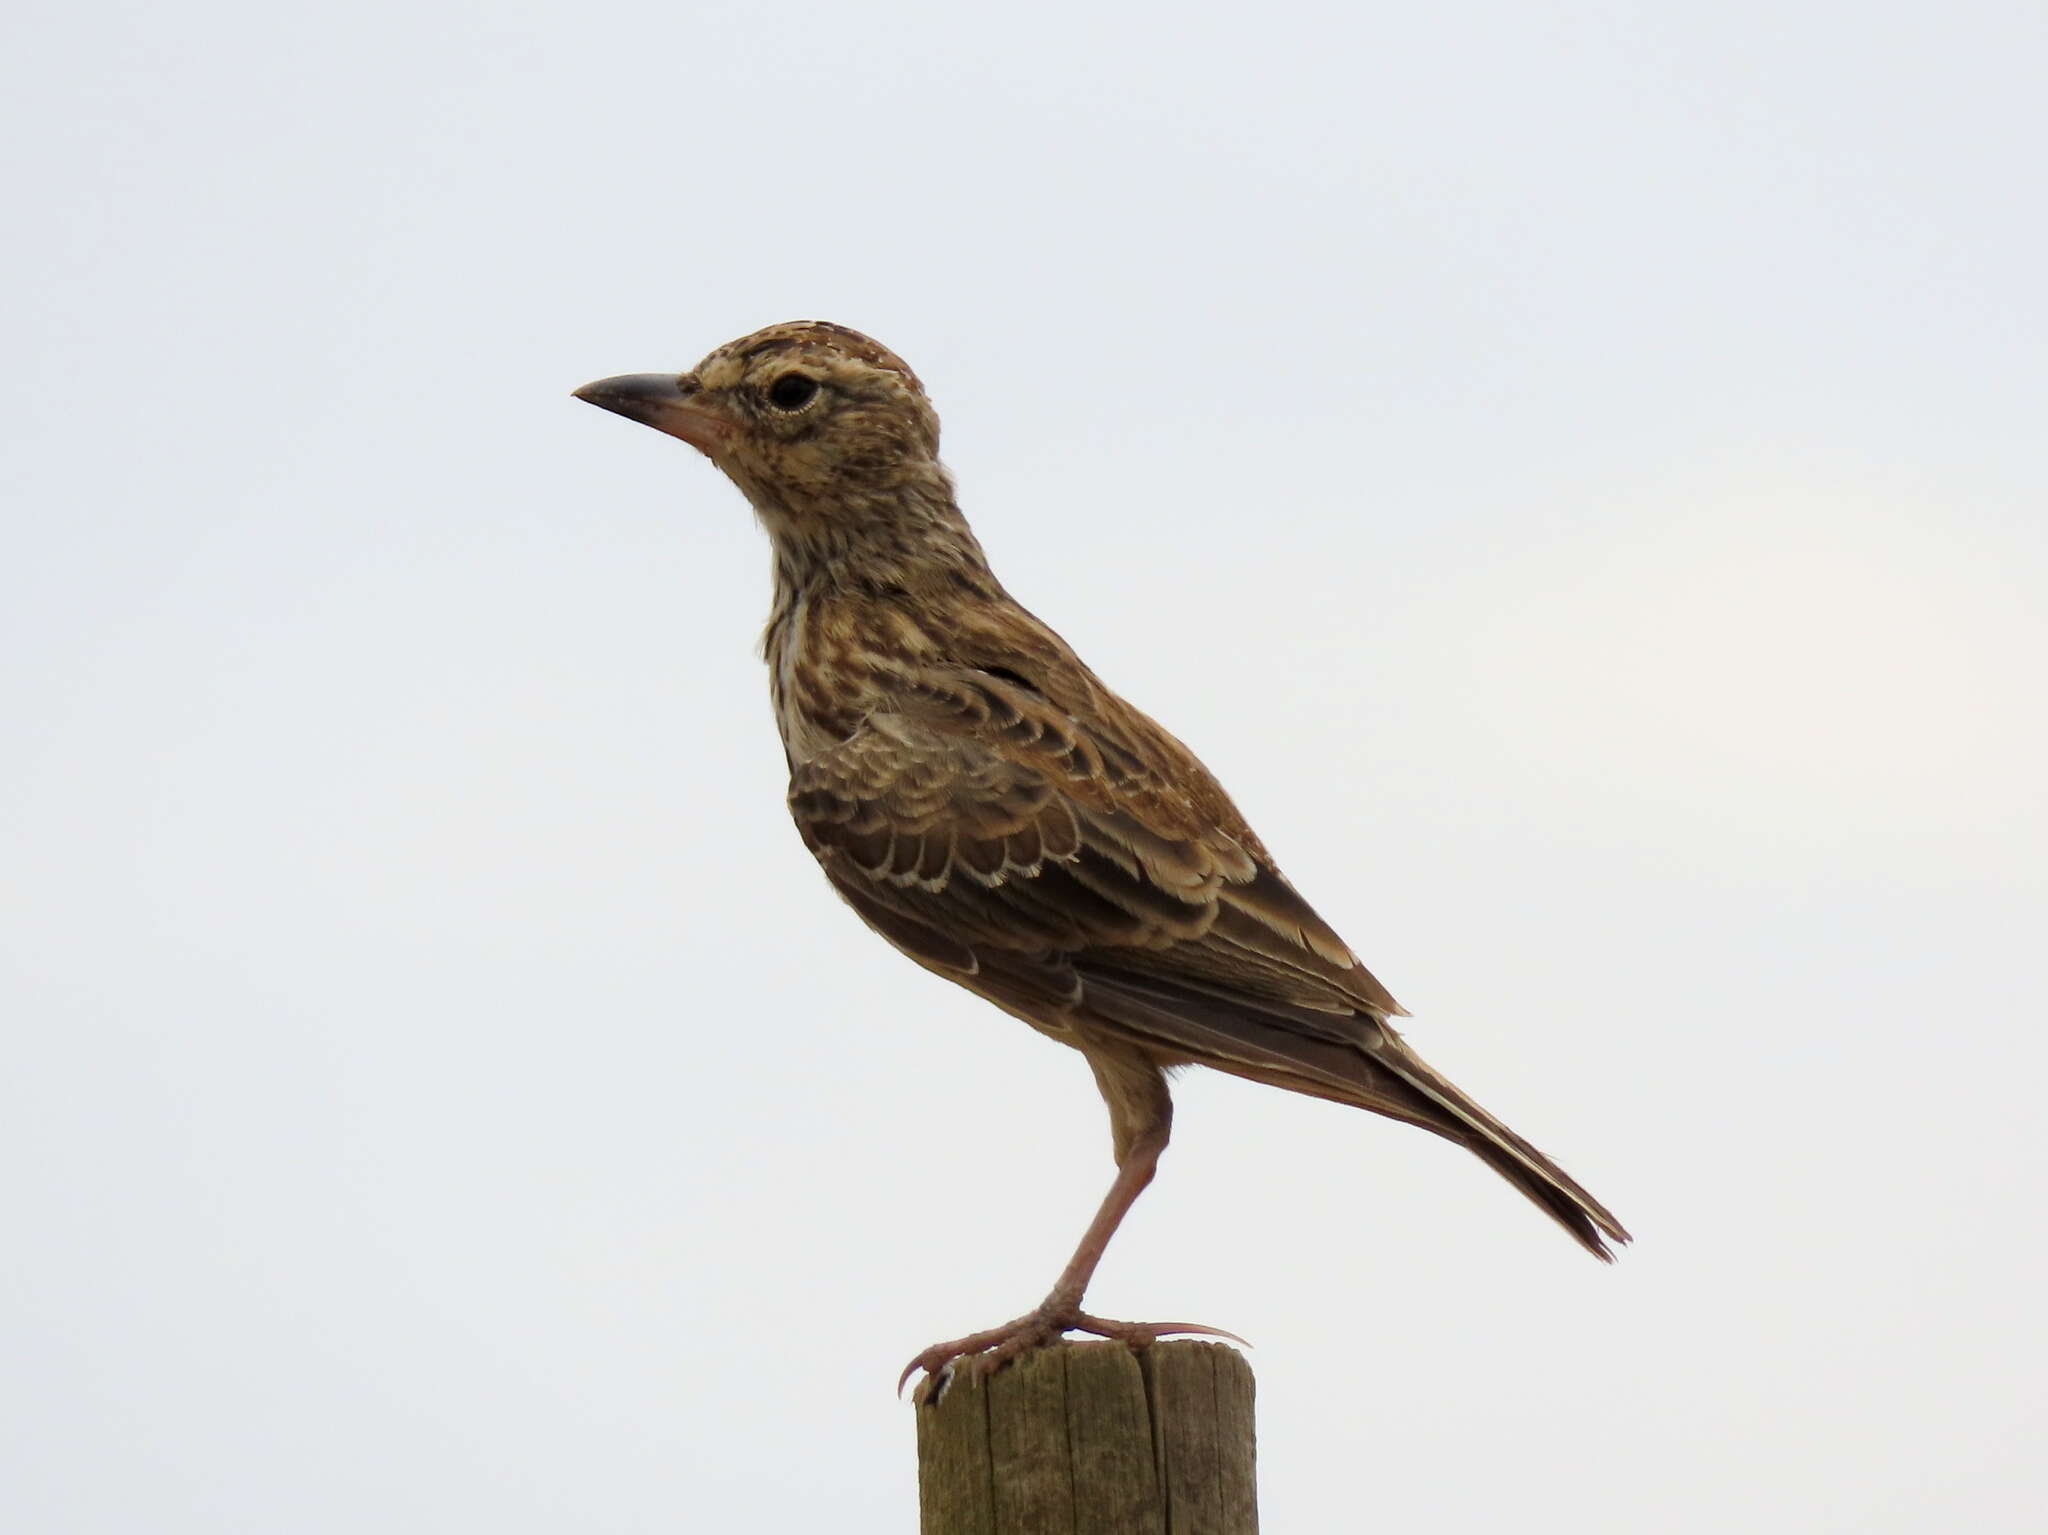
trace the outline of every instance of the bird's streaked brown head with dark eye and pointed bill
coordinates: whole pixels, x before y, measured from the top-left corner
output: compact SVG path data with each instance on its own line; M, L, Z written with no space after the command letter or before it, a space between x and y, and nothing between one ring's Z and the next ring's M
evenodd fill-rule
M952 501L938 411L918 375L844 325L768 325L688 372L598 379L575 397L702 452L745 491L778 544L844 544L856 524Z

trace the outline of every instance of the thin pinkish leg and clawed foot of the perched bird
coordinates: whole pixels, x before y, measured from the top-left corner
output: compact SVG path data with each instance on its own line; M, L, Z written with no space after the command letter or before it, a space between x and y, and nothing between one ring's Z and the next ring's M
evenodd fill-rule
M1098 1077L1102 1077L1100 1066ZM1108 1083L1104 1083L1104 1095L1110 1095ZM1067 1267L1061 1269L1047 1298L1024 1316L1001 1326L991 1326L985 1332L969 1332L965 1339L952 1339L952 1343L934 1343L903 1367L903 1373L897 1377L899 1392L903 1390L903 1382L920 1369L936 1375L963 1357L977 1357L985 1369L999 1369L1020 1353L1057 1343L1065 1332L1094 1332L1102 1339L1120 1339L1135 1349L1167 1332L1206 1332L1208 1336L1243 1343L1235 1332L1202 1326L1200 1322L1112 1322L1110 1318L1090 1316L1081 1310L1081 1296L1087 1291L1087 1281L1096 1277L1096 1265L1102 1263L1102 1255L1110 1248L1110 1238L1116 1236L1116 1228L1124 1216L1130 1214L1130 1205L1145 1193L1145 1185L1153 1181L1153 1173L1159 1169L1159 1152L1165 1150L1174 1124L1163 1079L1159 1079L1157 1103L1147 1103L1147 1109L1153 1111L1143 1117L1143 1128L1130 1132L1118 1107L1122 1105L1110 1097L1112 1124L1116 1124L1118 1132L1116 1179L1110 1183L1110 1191L1102 1197L1096 1218L1087 1222L1079 1246L1073 1248L1073 1257L1067 1259Z

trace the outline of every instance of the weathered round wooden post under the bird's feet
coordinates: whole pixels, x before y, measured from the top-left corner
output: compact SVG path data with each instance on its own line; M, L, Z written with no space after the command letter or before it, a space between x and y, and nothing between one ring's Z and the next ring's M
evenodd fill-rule
M922 1535L1257 1533L1251 1365L1221 1343L1061 1343L915 1404Z

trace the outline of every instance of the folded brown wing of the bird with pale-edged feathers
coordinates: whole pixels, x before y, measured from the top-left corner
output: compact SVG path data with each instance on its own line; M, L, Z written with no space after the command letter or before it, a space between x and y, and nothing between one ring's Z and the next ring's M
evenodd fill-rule
M1182 763L1114 718L1083 725L1022 682L961 669L799 763L788 802L840 892L934 968L1034 956L1069 1001L1081 978L1128 974L1362 1044L1356 1015L1401 1005L1157 735Z

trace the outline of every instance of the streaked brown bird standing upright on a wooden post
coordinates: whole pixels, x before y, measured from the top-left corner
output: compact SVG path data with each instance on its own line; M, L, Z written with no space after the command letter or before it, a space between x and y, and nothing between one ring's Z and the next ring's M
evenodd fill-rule
M834 890L948 980L1079 1050L1116 1179L1051 1293L934 1345L999 1365L1112 1322L1081 1293L1151 1183L1167 1070L1212 1066L1432 1130L1597 1259L1628 1232L1432 1070L1405 1015L1280 874L1180 741L1110 692L989 571L938 463L938 415L889 348L823 321L729 342L690 372L575 391L709 456L774 544L764 651L788 808Z

